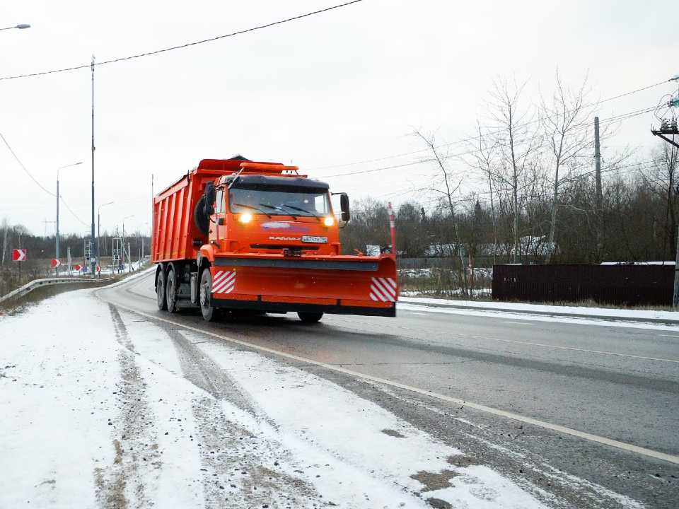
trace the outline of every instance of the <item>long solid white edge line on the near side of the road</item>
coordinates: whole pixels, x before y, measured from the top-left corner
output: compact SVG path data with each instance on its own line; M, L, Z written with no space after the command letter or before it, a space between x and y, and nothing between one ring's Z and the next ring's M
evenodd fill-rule
M488 414L494 414L494 415L497 415L497 416L501 416L501 417L504 417L505 419L513 419L514 421L532 424L533 426L539 426L540 428L545 428L545 429L549 429L549 430L552 430L552 431L556 431L557 433L564 433L566 435L573 435L573 436L576 436L578 438L583 438L584 440L590 440L591 442L596 442L596 443L600 443L600 444L604 444L604 445L610 445L611 447L617 447L618 449L626 450L628 452L636 452L639 455L653 457L653 458L656 458L657 460L663 460L663 461L666 461L666 462L679 464L679 456L668 455L664 452L658 452L658 451L655 451L655 450L646 449L645 447L639 447L637 445L632 445L632 444L628 444L628 443L625 443L625 442L619 442L618 440L612 440L610 438L600 437L600 436L597 436L597 435L593 435L591 433L586 433L584 431L578 431L578 430L574 430L574 429L571 429L571 428L566 428L565 426L559 426L558 424L552 424L552 423L548 423L546 421L540 421L539 419L533 419L532 417L526 417L526 416L521 416L521 415L518 415L518 414L512 414L511 412L508 412L508 411L504 411L504 410L500 410L500 409L494 409L491 406L485 406L485 405L482 405L482 404L468 402L468 401L465 401L464 399L446 396L446 394L438 394L436 392L431 392L431 391L428 391L428 390L419 389L418 387L411 387L410 385L405 385L405 384L402 384L402 383L399 383L399 382L393 382L391 380L385 380L384 378L378 378L378 377L374 377L374 376L371 376L371 375L366 375L365 373L359 373L358 371L352 371L352 370L348 370L348 369L345 369L345 368L340 368L340 366L326 364L326 363L319 362L319 361L312 361L311 359L308 359L308 358L296 356L296 355L293 355L291 353L284 353L282 351L278 351L278 350L274 350L274 349L269 349L266 346L258 346L258 345L255 345L255 344L248 343L247 341L240 341L240 339L233 339L233 338L230 338L230 337L226 337L226 336L223 336L221 334L216 334L214 332L209 332L209 331L206 331L206 330L203 330L203 329L199 329L199 327L192 327L190 325L182 324L181 322L177 322L175 320L168 320L167 318L161 318L161 317L149 315L148 313L145 313L145 312L142 312L142 311L134 310L132 308L127 308L127 306L120 305L120 304L112 302L111 300L107 300L107 299L103 298L102 296L99 295L99 293L100 293L100 291L98 291L96 293L96 295L101 300L104 300L105 302L116 305L119 308L122 308L124 310L129 311L129 312L136 313L137 315L149 318L151 320L158 320L158 321L161 321L161 322L166 322L168 324L173 324L177 327L182 327L184 329L187 329L187 330L190 330L190 331L193 331L193 332L197 332L199 334L207 334L208 336L211 336L211 337L214 337L214 338L217 338L217 339L222 339L224 341L229 341L233 344L238 344L240 346L245 346L249 349L254 349L254 350L258 350L258 351L262 351L262 352L266 352L266 353L272 353L273 355L282 356L284 358L289 358L289 359L292 359L294 361L300 361L300 362L303 362L303 363L318 365L321 368L325 368L325 369L333 370L333 371L338 371L340 373L344 373L345 375L351 375L351 376L354 376L354 377L357 377L357 378L363 378L364 380L371 380L371 382L377 382L377 383L381 383L381 384L384 384L384 385L389 385L390 387L398 387L399 389L407 390L407 391L410 391L410 392L416 392L417 394L422 394L424 396L429 396L429 397L433 397L433 398L436 398L436 399L441 399L442 401L446 401L446 402L451 402L451 403L454 403L454 404L469 406L472 409L484 411L484 412L487 412Z

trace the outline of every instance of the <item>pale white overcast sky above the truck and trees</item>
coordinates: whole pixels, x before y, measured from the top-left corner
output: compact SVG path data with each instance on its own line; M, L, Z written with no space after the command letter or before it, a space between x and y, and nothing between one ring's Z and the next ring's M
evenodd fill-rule
M297 16L341 1L4 0L0 77L103 62ZM96 202L102 228L150 220L151 174L166 187L203 158L236 153L302 170L384 158L423 148L412 127L441 142L483 123L495 76L530 79L526 99L588 73L605 99L679 72L679 2L364 0L299 21L95 70ZM658 103L676 83L613 100L601 119ZM0 133L33 176L62 197L62 233L89 230L89 69L0 81ZM652 113L629 119L608 151L647 151ZM605 155L605 154L604 154ZM387 197L426 168L417 156L309 170L335 191ZM0 141L0 217L54 233L55 199L23 172ZM407 197L397 197L396 202ZM144 226L143 228L148 228Z

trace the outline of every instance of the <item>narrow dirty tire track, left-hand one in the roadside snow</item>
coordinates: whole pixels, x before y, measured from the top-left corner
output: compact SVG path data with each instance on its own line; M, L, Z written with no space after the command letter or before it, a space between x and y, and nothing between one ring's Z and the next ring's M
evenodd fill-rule
M109 305L115 337L123 346L118 353L120 383L117 384L117 406L120 414L109 425L117 431L113 439L115 459L108 467L94 471L97 501L103 508L147 507L153 503L153 487L144 482L144 471L162 466L156 432L151 431L153 414L146 400L146 384L135 359L137 352L129 339L120 314Z

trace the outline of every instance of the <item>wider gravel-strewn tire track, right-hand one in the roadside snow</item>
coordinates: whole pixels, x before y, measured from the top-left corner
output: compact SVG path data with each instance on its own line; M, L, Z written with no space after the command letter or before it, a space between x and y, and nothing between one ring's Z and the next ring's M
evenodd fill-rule
M197 448L202 467L204 505L211 508L323 505L323 497L313 484L294 472L302 472L304 466L271 439L275 423L224 368L199 348L198 344L204 342L202 338L187 337L163 322L156 322L154 327L158 334L121 334L120 340L137 354L150 353L141 341L156 341L156 349L173 349L181 370L175 375L205 391L192 397L190 403L196 426L191 443ZM134 331L132 325L130 330ZM138 346L136 350L133 343ZM231 416L234 411L238 419Z

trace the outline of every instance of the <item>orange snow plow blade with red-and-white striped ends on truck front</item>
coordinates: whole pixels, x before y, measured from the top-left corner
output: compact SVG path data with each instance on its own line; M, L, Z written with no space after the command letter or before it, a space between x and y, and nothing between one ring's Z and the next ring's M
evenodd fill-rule
M396 316L396 264L388 255L222 255L211 276L216 308Z

